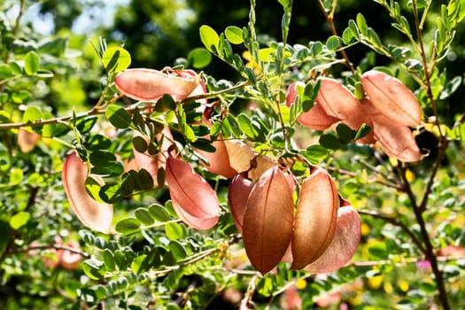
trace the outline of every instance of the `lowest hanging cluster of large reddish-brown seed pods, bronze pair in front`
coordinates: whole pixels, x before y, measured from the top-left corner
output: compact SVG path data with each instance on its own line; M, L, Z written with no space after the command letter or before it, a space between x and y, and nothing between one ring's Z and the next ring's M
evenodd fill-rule
M359 214L339 197L322 167L312 167L298 186L277 165L255 182L247 171L236 174L228 201L245 252L262 274L280 261L293 269L330 272L343 267L360 243Z

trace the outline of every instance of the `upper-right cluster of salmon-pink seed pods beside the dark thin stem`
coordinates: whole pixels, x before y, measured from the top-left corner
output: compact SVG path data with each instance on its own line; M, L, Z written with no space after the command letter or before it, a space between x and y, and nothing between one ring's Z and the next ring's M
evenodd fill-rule
M353 130L362 124L372 128L358 143L377 143L387 155L406 162L419 161L421 151L410 127L421 124L417 98L401 81L391 75L371 70L362 74L365 97L360 101L337 80L322 77L314 106L302 113L298 122L307 128L324 130L342 122ZM296 82L288 89L286 103L297 97Z

